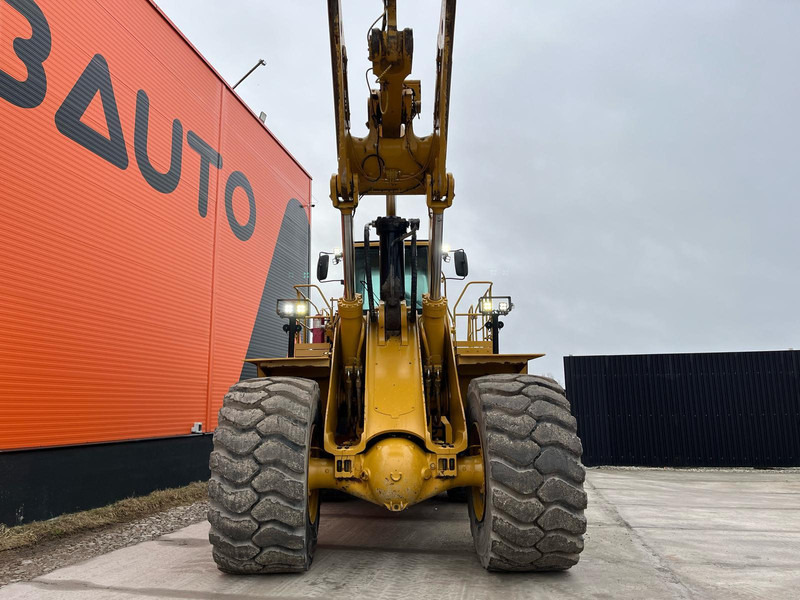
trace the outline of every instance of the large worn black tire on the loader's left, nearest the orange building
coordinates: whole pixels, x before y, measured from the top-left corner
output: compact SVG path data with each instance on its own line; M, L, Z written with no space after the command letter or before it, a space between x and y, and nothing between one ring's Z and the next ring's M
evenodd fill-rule
M225 395L208 482L209 540L221 571L308 570L319 529L319 496L308 494L319 415L319 386L308 379L248 379Z

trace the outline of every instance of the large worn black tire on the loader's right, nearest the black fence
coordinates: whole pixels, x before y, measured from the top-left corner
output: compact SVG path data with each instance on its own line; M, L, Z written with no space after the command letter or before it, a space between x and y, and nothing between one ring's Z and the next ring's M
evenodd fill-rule
M467 410L484 458L485 487L469 498L481 563L492 571L569 569L583 550L586 493L564 390L545 377L489 375L470 383Z

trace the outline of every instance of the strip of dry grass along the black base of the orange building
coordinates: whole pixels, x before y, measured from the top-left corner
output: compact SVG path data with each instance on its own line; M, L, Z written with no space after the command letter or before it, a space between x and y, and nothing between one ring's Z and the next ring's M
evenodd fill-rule
M126 498L108 506L61 515L47 521L34 521L16 527L0 525L0 552L106 525L129 523L175 506L205 500L207 494L207 484L195 482L185 487L158 490L147 496Z

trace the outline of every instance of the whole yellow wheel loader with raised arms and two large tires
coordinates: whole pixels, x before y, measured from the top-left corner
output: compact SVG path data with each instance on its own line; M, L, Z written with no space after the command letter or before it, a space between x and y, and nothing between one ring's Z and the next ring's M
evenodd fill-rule
M527 374L540 354L499 353L499 316L510 298L481 282L476 303L458 313L461 298L451 308L443 285L443 217L454 197L445 158L455 0L442 4L433 132L424 137L413 128L420 82L407 79L413 36L397 29L395 0L384 0L381 25L368 36L378 83L367 101L369 131L351 135L340 10L328 1L338 148L331 200L341 212L335 262L344 291L318 305L316 286L296 286L297 297L277 307L288 356L248 359L259 377L225 396L210 459L214 559L229 573L308 569L320 490L389 511L459 490L484 567L568 569L583 549L586 494L564 390ZM353 215L372 195L385 197L386 215L356 241ZM419 221L396 214L406 195L427 199L427 241L417 239ZM466 255L452 259L465 277ZM322 280L328 261L320 256Z

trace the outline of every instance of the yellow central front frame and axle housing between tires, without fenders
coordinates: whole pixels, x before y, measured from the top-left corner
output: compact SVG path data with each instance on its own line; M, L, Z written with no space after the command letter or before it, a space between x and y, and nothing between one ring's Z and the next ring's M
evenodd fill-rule
M405 307L403 307L405 308ZM457 456L467 449L467 424L460 393L455 349L444 318L440 366L449 378L452 443L437 443L427 424L420 321L403 319L400 336L385 336L380 323L365 319L364 423L359 439L337 444L338 390L342 348L337 327L331 356L330 385L324 411L324 449L332 457L309 461L308 489L337 489L399 511L456 487L484 485L482 455ZM338 325L340 323L337 322ZM388 436L388 437L384 437ZM408 439L405 436L411 436Z

